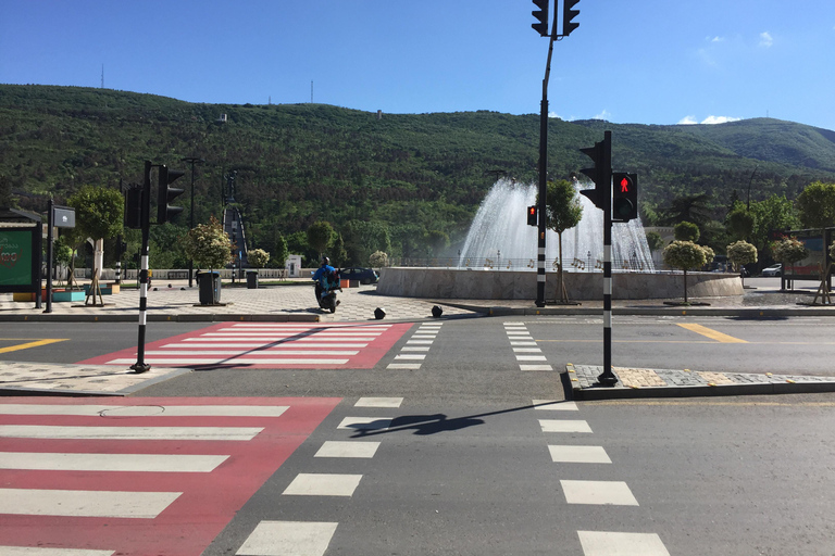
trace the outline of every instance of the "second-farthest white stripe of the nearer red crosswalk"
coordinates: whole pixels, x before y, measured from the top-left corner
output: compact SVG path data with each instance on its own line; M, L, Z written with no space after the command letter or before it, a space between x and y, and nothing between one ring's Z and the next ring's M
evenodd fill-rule
M61 427L0 425L0 438L248 441L262 427Z

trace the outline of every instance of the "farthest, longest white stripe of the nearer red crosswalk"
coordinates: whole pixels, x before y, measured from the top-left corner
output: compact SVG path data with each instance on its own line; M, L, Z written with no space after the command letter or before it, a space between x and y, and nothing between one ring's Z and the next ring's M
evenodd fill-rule
M86 405L0 404L0 415L77 415L142 417L281 417L287 405Z

